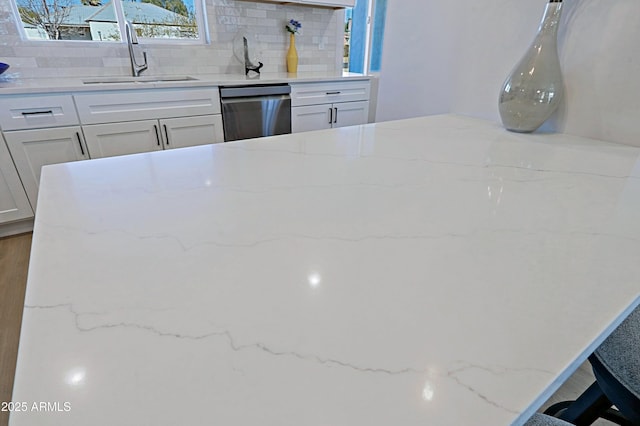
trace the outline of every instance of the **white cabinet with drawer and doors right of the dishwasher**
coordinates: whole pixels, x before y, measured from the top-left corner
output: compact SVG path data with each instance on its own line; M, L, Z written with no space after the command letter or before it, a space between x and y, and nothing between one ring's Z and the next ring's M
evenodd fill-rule
M291 85L291 131L365 124L369 117L368 80Z

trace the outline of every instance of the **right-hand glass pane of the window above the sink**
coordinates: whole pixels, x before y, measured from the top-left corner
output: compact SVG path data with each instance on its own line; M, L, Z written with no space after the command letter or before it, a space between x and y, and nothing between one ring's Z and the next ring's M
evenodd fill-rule
M197 39L194 0L123 0L125 19L138 37Z

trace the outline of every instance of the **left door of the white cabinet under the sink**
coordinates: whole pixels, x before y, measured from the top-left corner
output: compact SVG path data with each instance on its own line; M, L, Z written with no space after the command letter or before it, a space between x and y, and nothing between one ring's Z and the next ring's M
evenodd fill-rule
M91 158L162 150L158 120L82 126Z

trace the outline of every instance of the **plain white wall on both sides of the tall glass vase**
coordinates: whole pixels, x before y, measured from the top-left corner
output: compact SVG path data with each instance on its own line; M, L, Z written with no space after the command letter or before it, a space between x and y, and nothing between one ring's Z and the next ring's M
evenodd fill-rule
M499 122L498 91L545 4L390 0L377 120L453 112ZM564 0L563 8L566 96L545 128L640 146L638 0ZM404 47L407 25L416 36Z

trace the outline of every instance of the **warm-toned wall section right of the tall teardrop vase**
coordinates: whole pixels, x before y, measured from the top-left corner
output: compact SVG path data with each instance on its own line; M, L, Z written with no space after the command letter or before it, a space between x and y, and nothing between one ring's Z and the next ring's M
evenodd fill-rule
M640 146L640 3L572 0L560 37L558 129Z

